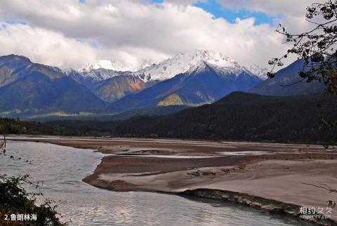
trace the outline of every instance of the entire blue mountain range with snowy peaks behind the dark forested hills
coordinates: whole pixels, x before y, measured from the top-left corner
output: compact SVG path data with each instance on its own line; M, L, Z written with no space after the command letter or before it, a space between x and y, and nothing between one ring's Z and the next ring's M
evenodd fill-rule
M296 61L266 79L267 69L243 67L221 53L193 51L142 69L100 60L79 69L60 69L20 55L0 57L0 114L115 114L132 109L196 106L233 91L262 95L322 93L321 84L298 83ZM178 108L177 108L178 109Z

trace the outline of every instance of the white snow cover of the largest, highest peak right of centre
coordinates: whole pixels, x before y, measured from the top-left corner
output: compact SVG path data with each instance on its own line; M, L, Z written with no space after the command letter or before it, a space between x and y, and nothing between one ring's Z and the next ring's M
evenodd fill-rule
M171 79L177 74L185 73L189 69L200 65L201 62L206 62L221 68L240 67L237 62L222 53L213 51L191 51L179 53L173 58L164 60L157 65L145 67L145 69L139 70L136 74L138 74L143 81L163 81Z

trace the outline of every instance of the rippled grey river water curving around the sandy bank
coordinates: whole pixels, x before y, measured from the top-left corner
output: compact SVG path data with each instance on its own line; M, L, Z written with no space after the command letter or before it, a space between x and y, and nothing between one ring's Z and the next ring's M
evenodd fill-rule
M308 225L220 201L101 190L81 180L95 170L103 154L41 142L8 141L7 146L8 156L22 159L0 157L0 173L29 174L32 181L40 181L41 192L57 202L62 219L72 220L70 225Z

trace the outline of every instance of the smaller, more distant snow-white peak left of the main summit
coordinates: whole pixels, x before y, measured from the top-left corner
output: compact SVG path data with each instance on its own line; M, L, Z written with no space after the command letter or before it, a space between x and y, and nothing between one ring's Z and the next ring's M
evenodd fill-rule
M78 72L91 72L91 70L94 69L110 69L115 72L133 72L136 71L136 69L133 69L131 67L127 67L120 62L117 62L116 60L97 60L96 62L88 63L79 69L77 69Z

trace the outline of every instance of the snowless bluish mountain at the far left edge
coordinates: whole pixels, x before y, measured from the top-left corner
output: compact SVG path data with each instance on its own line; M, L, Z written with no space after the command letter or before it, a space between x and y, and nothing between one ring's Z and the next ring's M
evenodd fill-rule
M0 57L2 114L102 112L105 102L65 74L18 55Z

